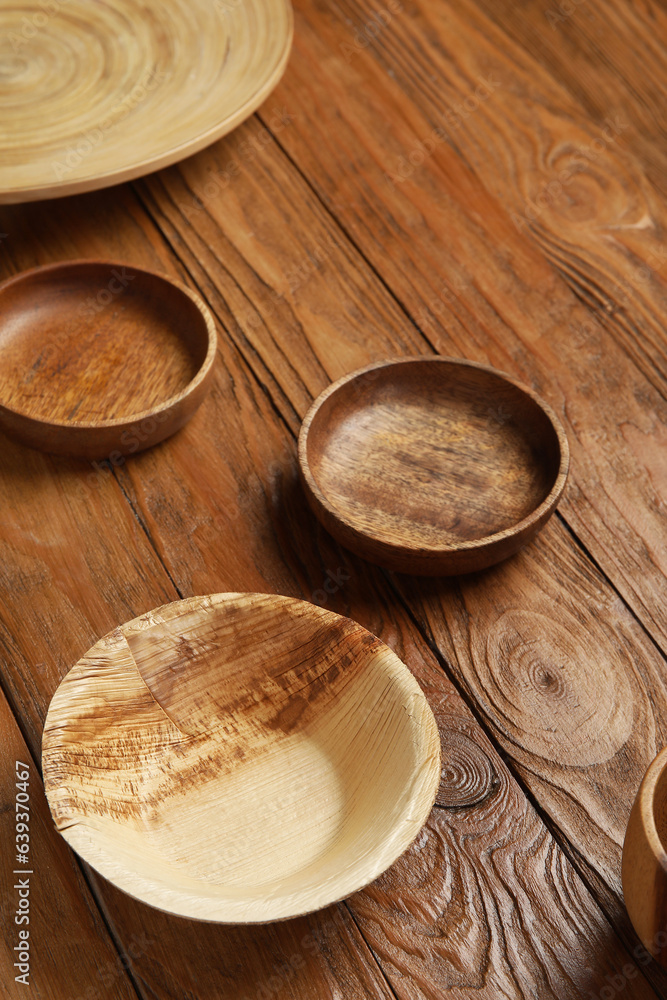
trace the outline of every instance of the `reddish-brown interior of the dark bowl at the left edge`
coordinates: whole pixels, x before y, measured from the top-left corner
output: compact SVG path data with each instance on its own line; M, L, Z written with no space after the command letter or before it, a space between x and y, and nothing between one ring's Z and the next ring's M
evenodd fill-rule
M95 423L159 407L206 358L206 321L170 281L73 263L0 290L0 404L37 420Z

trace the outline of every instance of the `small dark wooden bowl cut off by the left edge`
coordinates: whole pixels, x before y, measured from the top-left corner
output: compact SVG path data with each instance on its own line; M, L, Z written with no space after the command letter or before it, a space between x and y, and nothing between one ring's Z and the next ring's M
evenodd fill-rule
M163 275L99 260L24 271L0 285L0 428L119 461L190 419L215 351L204 303Z

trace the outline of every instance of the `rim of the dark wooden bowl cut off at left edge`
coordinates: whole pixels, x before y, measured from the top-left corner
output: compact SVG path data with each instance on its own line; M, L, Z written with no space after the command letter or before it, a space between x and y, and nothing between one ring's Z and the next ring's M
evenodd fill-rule
M104 430L105 428L114 427L125 427L127 424L136 424L139 421L146 420L149 417L162 416L168 413L170 410L182 403L193 392L204 382L209 375L213 363L215 361L217 353L218 338L215 329L215 322L211 314L210 309L204 302L204 300L190 288L184 285L181 281L176 278L172 278L169 275L161 273L160 271L153 271L150 268L143 267L142 265L131 264L128 261L118 261L118 260L108 260L106 258L90 257L90 258L75 258L73 260L60 260L55 261L51 264L41 264L37 267L28 268L25 271L19 271L18 274L12 275L5 281L0 283L0 310L2 309L2 296L3 294L13 286L20 286L25 281L29 281L36 275L54 275L54 280L52 285L57 286L57 274L59 271L64 271L69 268L74 268L75 270L80 270L84 272L88 268L92 267L108 267L121 268L129 271L130 269L138 274L146 275L150 278L157 278L158 281L164 282L170 285L172 290L180 293L180 295L188 298L195 306L197 313L204 323L204 330L206 334L206 354L204 360L199 366L194 377L187 383L187 385L181 389L180 392L175 393L172 396L167 397L166 400L159 403L157 406L153 406L147 410L140 410L133 413L128 413L122 417L109 417L102 420L77 420L77 421L64 421L64 420L47 420L44 417L35 417L30 413L26 413L25 410L16 409L15 406L8 406L0 399L0 410L5 413L11 413L19 420L29 420L34 425L38 427L57 427L59 429L66 429L67 431L76 433L77 431L85 430ZM0 321L1 326L1 321ZM0 348L0 358L2 357L2 349ZM4 380L6 382L6 380Z

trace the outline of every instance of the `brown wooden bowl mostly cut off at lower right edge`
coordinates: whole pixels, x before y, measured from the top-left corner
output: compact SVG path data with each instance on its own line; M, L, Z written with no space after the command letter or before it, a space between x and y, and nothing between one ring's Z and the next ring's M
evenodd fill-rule
M637 792L623 844L622 878L637 934L667 966L667 747Z

